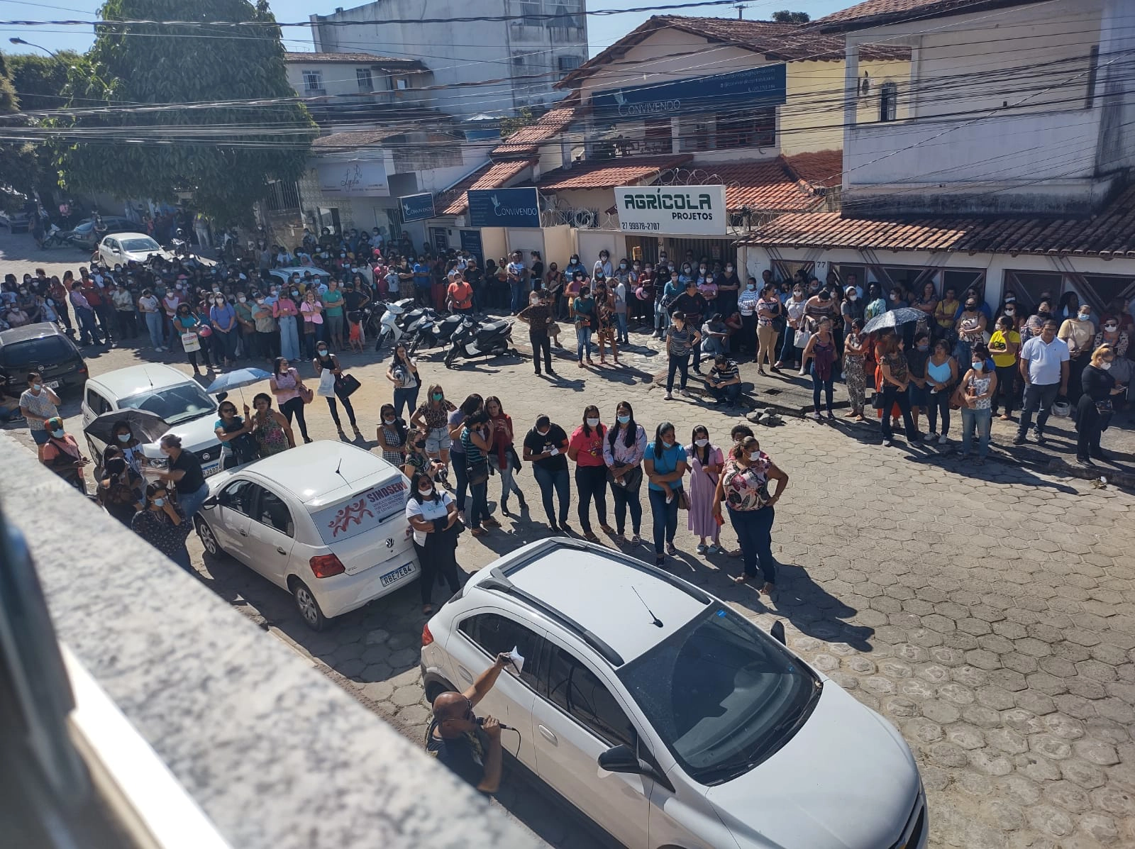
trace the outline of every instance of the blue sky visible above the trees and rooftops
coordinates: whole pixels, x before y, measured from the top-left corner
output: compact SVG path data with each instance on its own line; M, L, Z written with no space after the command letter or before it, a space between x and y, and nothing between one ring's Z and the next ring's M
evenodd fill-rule
M191 0L192 1L192 0ZM351 0L269 0L276 19L306 20L312 12L328 14L336 6L351 8L361 6L361 2ZM657 2L681 2L682 0L657 0ZM745 17L750 19L768 18L777 9L792 9L806 11L813 18L818 18L836 9L852 6L857 0L741 0L748 8L745 9ZM482 0L484 2L484 0ZM0 0L0 20L78 20L94 19L95 11L102 5L102 0L47 0L36 2L35 0ZM424 0L423 0L424 5ZM627 9L642 7L647 3L644 0L588 0L589 9ZM487 3L486 3L487 6ZM495 3L494 3L495 6ZM466 7L470 8L470 7ZM477 8L473 5L471 8ZM707 6L703 8L686 9L669 14L704 15L713 17L735 17L737 12L729 6ZM633 30L650 17L650 12L627 12L623 15L588 17L588 39L590 53L594 56L599 50L617 41L621 36ZM40 44L49 50L86 50L93 40L92 30L84 26L0 26L0 42L5 52L37 52L34 48L8 44L7 40L18 36L26 41ZM287 50L311 50L311 34L306 28L292 27L284 31L284 47ZM407 48L407 56L413 56L413 47Z

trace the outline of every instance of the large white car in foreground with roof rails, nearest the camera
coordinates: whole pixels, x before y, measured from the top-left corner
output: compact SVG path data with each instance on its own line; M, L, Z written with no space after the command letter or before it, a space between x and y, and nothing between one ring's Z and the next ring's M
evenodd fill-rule
M779 625L780 623L777 623ZM505 750L629 849L922 849L898 731L723 602L563 538L473 574L422 630L427 698L506 669ZM779 640L779 641L777 641Z

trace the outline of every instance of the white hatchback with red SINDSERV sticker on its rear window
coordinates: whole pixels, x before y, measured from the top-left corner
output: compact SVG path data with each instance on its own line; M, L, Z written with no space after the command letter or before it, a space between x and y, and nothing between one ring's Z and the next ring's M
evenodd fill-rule
M381 457L318 440L210 478L194 527L209 554L230 554L291 592L318 631L418 575L409 495Z

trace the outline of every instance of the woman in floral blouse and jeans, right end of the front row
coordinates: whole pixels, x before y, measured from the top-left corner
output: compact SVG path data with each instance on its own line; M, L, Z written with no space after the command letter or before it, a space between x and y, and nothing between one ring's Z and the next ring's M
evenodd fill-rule
M776 481L776 490L768 491L768 481ZM773 510L788 487L788 474L760 451L755 437L747 436L735 443L717 478L713 515L723 522L721 505L725 503L729 519L741 543L745 572L733 580L745 583L757 577L757 565L765 583L760 591L772 596L776 588L776 562L773 560Z

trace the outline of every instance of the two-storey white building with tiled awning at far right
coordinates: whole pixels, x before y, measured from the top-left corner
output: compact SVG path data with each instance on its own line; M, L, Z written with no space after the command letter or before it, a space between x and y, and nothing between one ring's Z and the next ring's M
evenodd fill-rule
M1135 294L1135 17L1129 0L888 0L815 22L846 33L840 212L792 215L743 239L749 274L920 293L1075 292L1093 310ZM911 49L894 112L856 107L866 44ZM868 86L871 83L868 82Z

